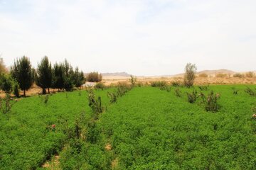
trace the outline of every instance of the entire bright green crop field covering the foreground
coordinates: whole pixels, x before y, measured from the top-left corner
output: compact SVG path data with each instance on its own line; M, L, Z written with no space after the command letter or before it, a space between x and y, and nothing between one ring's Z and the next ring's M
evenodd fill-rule
M56 169L256 169L255 96L244 85L195 89L194 103L193 88L134 87L113 103L116 89L95 90L104 107L95 120L87 91L23 98L0 115L0 169L43 169L54 154Z

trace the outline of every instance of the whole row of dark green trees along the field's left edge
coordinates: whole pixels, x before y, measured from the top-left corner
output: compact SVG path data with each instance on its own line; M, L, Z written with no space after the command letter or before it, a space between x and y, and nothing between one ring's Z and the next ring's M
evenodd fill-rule
M43 57L38 63L37 69L33 69L29 58L23 56L11 66L9 75L1 75L0 81L0 89L6 93L14 91L17 96L17 89L21 89L23 96L26 96L26 91L31 88L34 82L42 88L43 94L46 94L46 90L50 94L50 88L58 89L58 91L64 89L65 91L72 91L74 87L79 88L85 83L85 77L78 67L74 70L67 60L55 63L52 67L48 57Z

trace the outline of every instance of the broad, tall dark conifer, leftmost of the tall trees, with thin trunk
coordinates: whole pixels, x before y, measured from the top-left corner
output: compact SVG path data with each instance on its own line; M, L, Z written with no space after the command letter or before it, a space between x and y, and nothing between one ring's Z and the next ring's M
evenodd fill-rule
M11 67L11 76L18 81L23 96L26 96L26 91L33 84L33 71L28 57L23 56L21 59L14 61L14 66Z

